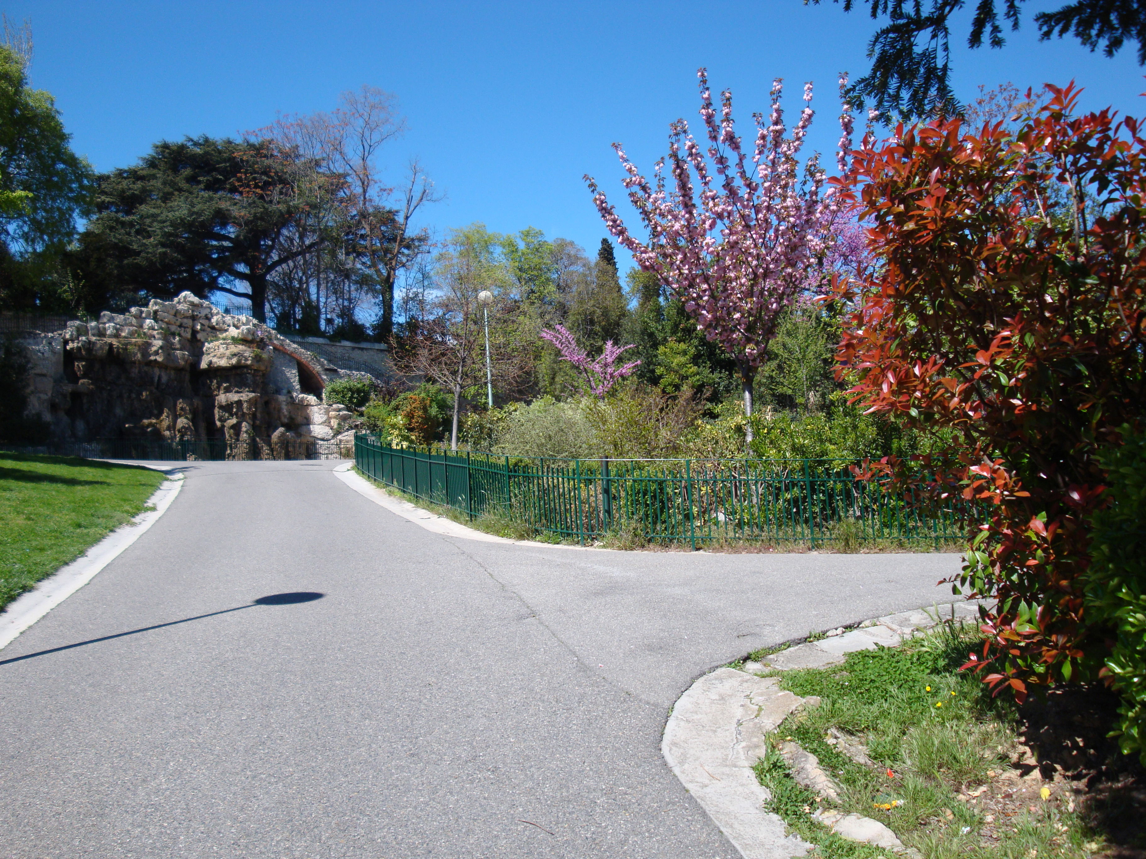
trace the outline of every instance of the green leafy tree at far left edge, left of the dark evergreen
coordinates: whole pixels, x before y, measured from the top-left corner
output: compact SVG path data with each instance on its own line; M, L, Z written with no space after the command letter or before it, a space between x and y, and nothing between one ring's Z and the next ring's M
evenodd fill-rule
M0 46L0 307L64 309L57 267L89 212L94 173L26 65Z

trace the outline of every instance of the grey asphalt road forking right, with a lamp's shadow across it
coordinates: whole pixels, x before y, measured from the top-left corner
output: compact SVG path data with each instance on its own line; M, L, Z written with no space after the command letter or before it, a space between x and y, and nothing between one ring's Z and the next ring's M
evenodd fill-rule
M672 703L958 568L444 537L335 465L188 465L0 651L0 857L736 857L660 756ZM292 592L323 596L253 602Z

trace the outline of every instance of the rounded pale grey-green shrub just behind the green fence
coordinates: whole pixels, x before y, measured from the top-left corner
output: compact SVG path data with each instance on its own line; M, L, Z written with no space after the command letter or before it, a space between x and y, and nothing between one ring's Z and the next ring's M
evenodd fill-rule
M586 403L580 400L535 400L505 419L494 452L571 459L597 456L599 441L586 412Z

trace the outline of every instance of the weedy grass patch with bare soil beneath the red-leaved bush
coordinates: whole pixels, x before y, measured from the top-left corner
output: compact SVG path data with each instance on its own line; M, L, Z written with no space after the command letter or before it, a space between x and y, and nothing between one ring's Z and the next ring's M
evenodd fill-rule
M884 822L925 859L1093 852L1101 838L1075 811L1073 794L1054 783L1044 797L1034 767L1018 766L1026 749L1017 739L1017 709L990 699L976 677L958 671L978 640L974 625L944 623L901 647L784 673L784 688L818 695L822 703L785 720L777 742L794 739L816 755L840 785L838 807ZM857 738L871 764L856 763L829 742L833 728ZM771 810L816 844L819 856L889 856L843 841L815 821L810 812L826 801L792 780L776 749L756 764L756 775L772 793Z

